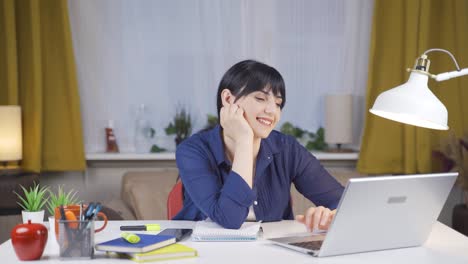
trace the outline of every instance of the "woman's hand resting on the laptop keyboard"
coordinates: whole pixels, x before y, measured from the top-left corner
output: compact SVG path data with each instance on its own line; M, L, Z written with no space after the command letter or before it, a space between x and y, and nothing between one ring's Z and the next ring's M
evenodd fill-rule
M335 217L336 210L330 210L326 207L310 207L304 215L296 215L296 221L303 223L307 231L328 230Z

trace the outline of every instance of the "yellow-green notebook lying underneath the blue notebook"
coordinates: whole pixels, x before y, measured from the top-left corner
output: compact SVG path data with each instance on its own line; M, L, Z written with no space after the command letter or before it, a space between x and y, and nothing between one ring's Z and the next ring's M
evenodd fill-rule
M182 245L172 244L146 253L127 253L128 258L136 262L160 261L169 259L193 258L198 256L197 250Z

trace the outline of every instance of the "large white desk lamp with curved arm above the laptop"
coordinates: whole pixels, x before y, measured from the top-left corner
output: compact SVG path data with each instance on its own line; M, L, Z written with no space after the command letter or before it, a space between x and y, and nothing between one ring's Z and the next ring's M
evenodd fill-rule
M437 75L429 73L430 61L427 55L433 51L448 54L455 66L456 71L440 73ZM445 81L451 78L467 75L468 68L460 69L457 60L447 50L429 49L419 58L406 83L381 93L369 111L377 116L387 118L400 123L425 127L430 129L447 130L447 108L429 90L427 82L429 77L436 81Z

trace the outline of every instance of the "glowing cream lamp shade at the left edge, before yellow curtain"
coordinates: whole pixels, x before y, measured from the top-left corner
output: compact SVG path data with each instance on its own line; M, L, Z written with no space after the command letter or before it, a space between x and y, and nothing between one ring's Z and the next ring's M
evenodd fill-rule
M21 108L0 106L0 161L23 158Z

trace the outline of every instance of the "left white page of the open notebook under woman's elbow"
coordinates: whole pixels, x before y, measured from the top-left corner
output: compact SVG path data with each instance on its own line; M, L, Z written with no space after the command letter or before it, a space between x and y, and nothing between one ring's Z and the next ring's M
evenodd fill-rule
M239 229L227 229L210 220L199 221L192 233L193 241L254 241L261 222L245 222Z

